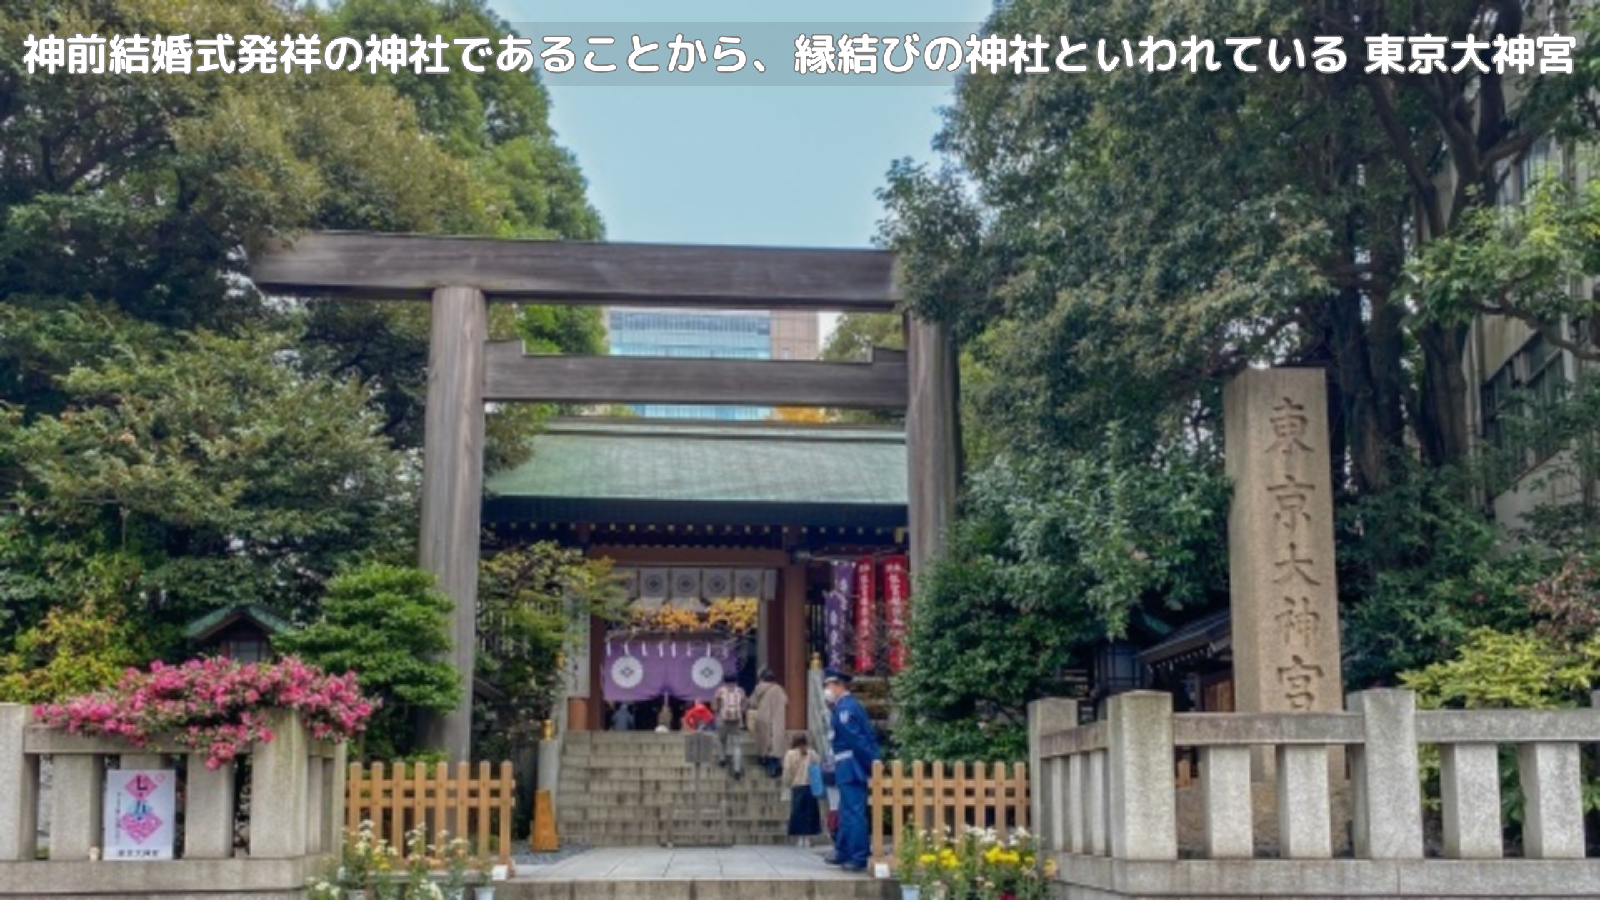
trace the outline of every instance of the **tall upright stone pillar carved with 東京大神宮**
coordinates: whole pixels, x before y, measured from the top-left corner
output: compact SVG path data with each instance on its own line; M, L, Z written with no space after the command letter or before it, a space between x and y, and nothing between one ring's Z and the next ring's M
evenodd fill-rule
M1253 368L1222 397L1234 697L1240 713L1338 713L1328 388L1320 368ZM1272 761L1258 759L1258 778Z

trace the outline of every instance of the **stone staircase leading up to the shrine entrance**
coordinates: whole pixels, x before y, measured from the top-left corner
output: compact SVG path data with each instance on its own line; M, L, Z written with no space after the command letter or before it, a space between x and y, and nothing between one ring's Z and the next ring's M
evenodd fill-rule
M744 778L706 765L694 802L694 767L685 762L685 733L568 732L555 818L563 844L589 847L691 846L726 836L733 844L782 844L787 790L768 778L744 741ZM722 806L725 804L725 806ZM726 809L726 831L720 814Z

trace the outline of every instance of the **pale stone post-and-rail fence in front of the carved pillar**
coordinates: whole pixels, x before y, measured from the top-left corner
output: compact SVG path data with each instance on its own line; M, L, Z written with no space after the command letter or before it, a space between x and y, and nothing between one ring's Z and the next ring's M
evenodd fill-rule
M1341 713L1173 714L1170 695L1133 692L1062 729L1070 701L1048 703L1030 709L1035 822L1072 897L1600 895L1579 767L1600 709L1419 711L1408 690L1368 690ZM1432 849L1424 746L1440 756ZM1504 841L1501 746L1526 798L1520 847ZM1200 753L1197 788L1174 786L1179 748ZM1333 749L1347 769L1330 772ZM1274 761L1270 783L1251 754Z

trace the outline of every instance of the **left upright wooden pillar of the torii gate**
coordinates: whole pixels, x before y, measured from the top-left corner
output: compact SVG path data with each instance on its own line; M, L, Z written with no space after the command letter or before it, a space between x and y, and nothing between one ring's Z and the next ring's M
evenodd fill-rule
M446 751L448 759L469 759L472 746L488 320L483 291L459 287L434 291L418 543L419 565L434 573L438 588L456 604L450 617L450 660L461 684L461 701L448 714L427 717L422 745Z

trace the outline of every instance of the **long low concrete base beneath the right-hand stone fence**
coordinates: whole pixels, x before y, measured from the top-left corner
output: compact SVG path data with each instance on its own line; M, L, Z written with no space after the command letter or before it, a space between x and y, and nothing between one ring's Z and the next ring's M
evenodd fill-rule
M1592 860L1181 860L1056 857L1058 897L1597 897Z

